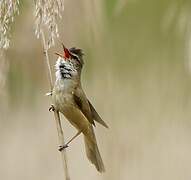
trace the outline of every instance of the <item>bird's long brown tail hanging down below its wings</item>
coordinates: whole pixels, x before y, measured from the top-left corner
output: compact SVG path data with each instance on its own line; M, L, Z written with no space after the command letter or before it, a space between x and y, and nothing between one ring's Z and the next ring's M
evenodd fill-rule
M91 138L90 138L91 137ZM91 135L84 135L86 155L90 162L92 162L96 169L102 173L105 172L105 167L97 146L96 137L94 134L93 127L91 127Z

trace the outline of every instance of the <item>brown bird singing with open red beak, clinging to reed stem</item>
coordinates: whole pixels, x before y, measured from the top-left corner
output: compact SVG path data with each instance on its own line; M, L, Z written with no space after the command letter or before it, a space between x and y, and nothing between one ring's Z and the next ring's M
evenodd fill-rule
M68 147L77 136L83 134L86 155L94 164L97 171L105 172L96 136L94 133L95 121L105 128L108 125L102 120L92 103L86 97L81 84L81 72L84 66L82 49L66 48L63 54L56 53L58 59L55 64L55 84L52 91L54 110L62 113L65 118L77 129L77 133L66 144L61 145L62 151Z

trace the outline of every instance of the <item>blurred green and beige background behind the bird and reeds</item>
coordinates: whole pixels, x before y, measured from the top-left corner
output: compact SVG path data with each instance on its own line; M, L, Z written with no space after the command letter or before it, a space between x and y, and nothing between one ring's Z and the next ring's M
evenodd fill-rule
M33 1L22 0L0 57L0 179L64 178ZM65 0L49 50L84 49L83 87L110 129L97 125L106 173L68 148L72 180L191 179L191 1ZM65 138L75 130L62 116Z

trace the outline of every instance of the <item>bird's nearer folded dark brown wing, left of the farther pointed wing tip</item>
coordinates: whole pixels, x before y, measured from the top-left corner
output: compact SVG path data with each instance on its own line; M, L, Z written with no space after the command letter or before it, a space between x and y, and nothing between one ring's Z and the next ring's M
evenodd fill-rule
M88 100L84 92L82 91L82 89L80 88L76 89L76 91L73 93L73 97L74 97L74 101L76 105L81 110L81 112L85 115L87 120L95 126Z

